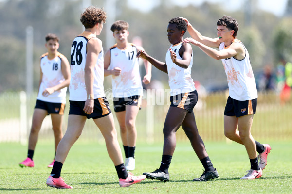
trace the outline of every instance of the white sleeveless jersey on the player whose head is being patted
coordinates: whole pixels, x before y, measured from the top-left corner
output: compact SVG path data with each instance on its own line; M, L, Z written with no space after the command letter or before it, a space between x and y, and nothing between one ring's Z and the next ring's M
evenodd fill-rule
M179 50L181 47L182 43L170 46L170 48L176 53L177 59L182 59L179 54ZM194 81L191 78L193 53L190 65L186 69L172 62L169 49L167 50L165 61L167 64L168 84L170 87L171 96L196 90Z

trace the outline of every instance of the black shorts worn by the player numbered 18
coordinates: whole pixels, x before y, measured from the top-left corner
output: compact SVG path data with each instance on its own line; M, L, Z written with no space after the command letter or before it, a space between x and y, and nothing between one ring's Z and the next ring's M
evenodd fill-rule
M49 114L64 114L65 104L64 103L55 103L55 102L45 102L42 100L37 100L35 109L44 109Z

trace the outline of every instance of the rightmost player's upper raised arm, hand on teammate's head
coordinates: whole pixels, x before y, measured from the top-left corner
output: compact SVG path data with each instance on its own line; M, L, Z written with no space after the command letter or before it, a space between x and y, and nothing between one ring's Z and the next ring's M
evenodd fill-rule
M181 18L183 18L183 17L181 17ZM187 23L187 31L189 32L189 34L191 35L191 37L193 39L195 39L198 42L201 42L204 45L207 45L208 47L217 47L217 48L219 48L219 45L220 45L219 38L210 38L210 37L207 37L207 36L203 36L203 35L201 35L201 33L199 31L197 31L191 25L191 23L186 18L183 18L183 20L186 21L186 23Z

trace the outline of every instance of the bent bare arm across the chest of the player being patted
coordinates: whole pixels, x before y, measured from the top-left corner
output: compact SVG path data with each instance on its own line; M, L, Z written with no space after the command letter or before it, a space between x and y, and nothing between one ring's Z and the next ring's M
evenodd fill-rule
M182 59L177 59L176 53L172 49L169 49L169 51L173 63L184 69L188 68L191 62L193 52L193 49L190 44L183 44L182 47L180 48L179 54L180 56L182 56Z

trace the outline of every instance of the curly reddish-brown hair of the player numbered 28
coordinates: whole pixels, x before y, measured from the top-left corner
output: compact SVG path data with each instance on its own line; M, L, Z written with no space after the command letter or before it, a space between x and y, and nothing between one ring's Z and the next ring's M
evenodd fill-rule
M106 18L106 12L103 9L90 6L81 14L80 21L85 29L87 29L93 28L97 23L101 23L102 21L106 23Z

